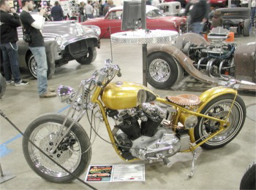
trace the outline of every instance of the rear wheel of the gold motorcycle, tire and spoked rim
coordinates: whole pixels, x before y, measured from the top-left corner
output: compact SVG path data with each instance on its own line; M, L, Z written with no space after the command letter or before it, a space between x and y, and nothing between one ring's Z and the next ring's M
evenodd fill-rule
M220 95L219 97L211 100L200 113L208 116L215 116L220 119L225 119L234 98L235 95L233 94ZM244 100L242 100L241 97L237 95L233 108L230 112L230 126L227 127L224 131L220 132L214 138L211 138L211 140L203 143L201 147L204 149L217 149L219 147L225 146L227 143L233 140L236 135L238 135L238 132L240 132L244 125L245 117L246 106L244 105ZM194 130L195 140L198 140L197 143L200 143L202 139L206 139L209 134L215 132L218 130L218 128L219 122L214 122L211 119L199 117L197 126Z

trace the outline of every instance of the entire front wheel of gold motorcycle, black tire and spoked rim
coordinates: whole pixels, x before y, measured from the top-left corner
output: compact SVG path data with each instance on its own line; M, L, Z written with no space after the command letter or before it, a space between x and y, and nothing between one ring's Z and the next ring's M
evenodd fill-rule
M61 114L44 114L31 122L24 134L45 153L48 153L50 146L52 146L52 141L59 134L64 119L65 116ZM67 119L65 127L69 127L71 123L72 119ZM72 174L79 177L84 173L91 161L91 143L85 130L78 123L72 126L67 137L72 139L64 142L69 148L67 149L67 146L63 143L63 148L66 148L62 151L57 149L56 153L53 154L53 159L67 170L72 171ZM77 151L77 149L79 150ZM88 151L86 151L87 149ZM23 138L23 154L31 169L46 181L68 183L75 180L75 177L61 170L50 159L37 151L27 138ZM40 159L37 159L38 157ZM75 157L78 158L75 159ZM69 159L72 159L72 162L69 162Z

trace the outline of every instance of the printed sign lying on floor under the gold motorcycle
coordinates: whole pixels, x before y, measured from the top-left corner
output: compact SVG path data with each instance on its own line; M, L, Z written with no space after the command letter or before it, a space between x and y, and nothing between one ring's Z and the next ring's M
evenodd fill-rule
M145 165L90 165L86 182L145 181Z

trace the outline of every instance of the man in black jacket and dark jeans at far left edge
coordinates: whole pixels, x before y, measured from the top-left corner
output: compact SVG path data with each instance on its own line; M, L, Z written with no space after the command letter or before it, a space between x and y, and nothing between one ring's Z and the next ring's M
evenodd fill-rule
M12 14L8 13L11 12ZM1 51L4 60L4 77L7 84L11 84L12 76L15 87L29 84L20 79L20 66L18 63L18 33L20 17L15 9L10 9L9 1L0 0L0 31L1 31Z

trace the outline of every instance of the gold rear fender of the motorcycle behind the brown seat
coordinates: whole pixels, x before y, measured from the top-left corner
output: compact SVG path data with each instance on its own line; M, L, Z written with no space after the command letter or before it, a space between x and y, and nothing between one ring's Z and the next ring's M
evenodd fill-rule
M237 94L237 90L233 90L231 88L225 88L225 87L214 87L209 90L206 90L206 92L203 92L199 98L201 100L201 103L199 104L199 108L197 109L197 113L200 113L200 111L203 110L203 108L211 101L214 100L214 98L219 97L220 95L225 94ZM195 136L194 136L194 129L189 130L189 136L192 143L195 143Z

